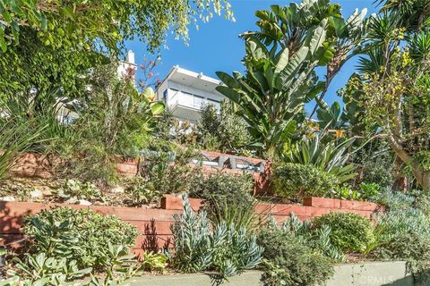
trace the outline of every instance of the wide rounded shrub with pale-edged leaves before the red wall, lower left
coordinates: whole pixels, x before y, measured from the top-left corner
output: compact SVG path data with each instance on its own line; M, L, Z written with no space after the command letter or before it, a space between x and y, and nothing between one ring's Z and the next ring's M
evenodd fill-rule
M57 207L43 210L26 219L24 232L34 238L30 251L47 257L75 260L80 268L104 270L109 265L107 246L128 251L138 231L114 215L102 215L89 209ZM110 251L110 252L109 252Z

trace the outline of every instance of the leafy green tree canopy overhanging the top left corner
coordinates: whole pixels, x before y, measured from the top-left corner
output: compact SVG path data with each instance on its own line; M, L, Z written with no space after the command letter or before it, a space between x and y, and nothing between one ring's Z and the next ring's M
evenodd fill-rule
M157 52L168 30L186 40L189 24L223 12L233 19L224 0L0 1L0 99L79 97L89 70L121 57L126 40Z

